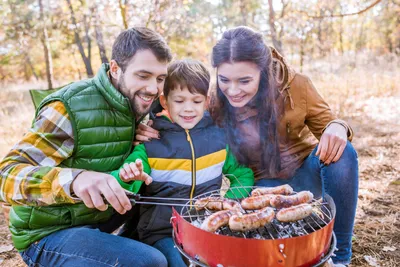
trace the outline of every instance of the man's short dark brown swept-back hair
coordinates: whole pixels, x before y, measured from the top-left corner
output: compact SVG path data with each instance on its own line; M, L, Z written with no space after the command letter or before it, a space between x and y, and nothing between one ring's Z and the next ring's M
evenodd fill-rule
M111 59L124 72L136 52L146 49L150 49L160 62L170 62L172 59L171 50L161 35L145 27L121 32L113 44Z

